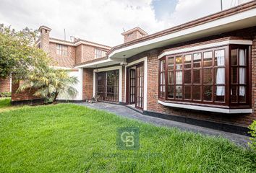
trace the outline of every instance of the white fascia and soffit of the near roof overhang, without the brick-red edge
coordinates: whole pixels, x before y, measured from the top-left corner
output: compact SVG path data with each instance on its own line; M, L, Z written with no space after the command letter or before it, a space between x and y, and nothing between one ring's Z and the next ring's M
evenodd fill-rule
M222 17L211 22L205 22L201 25L189 27L184 30L171 32L160 37L153 37L150 40L142 40L133 45L114 48L108 57L123 58L125 56L126 58L129 58L146 50L161 48L166 45L182 43L189 40L208 37L210 35L218 35L223 32L230 32L253 26L256 26L256 8Z

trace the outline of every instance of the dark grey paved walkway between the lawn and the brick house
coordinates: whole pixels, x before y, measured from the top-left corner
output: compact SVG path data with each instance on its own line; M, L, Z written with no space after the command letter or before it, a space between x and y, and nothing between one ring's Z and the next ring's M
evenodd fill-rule
M248 136L242 136L235 133L224 132L220 130L214 130L210 128L203 128L197 125L189 125L187 123L179 123L172 120L164 120L158 117L150 117L147 115L142 115L140 112L130 109L129 107L123 105L114 105L106 102L97 102L97 103L77 103L77 105L83 105L86 107L98 109L98 110L106 110L108 112L113 112L116 115L121 117L128 117L131 119L141 120L145 123L151 123L158 126L164 127L175 127L181 130L188 130L195 133L203 133L210 136L223 136L224 138L228 138L230 141L233 141L239 146L247 147L247 143L249 142Z

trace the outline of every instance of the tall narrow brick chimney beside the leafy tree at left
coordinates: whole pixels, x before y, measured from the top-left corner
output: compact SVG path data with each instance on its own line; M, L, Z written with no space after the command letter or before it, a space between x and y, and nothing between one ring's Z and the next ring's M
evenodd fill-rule
M45 50L47 53L49 52L49 38L50 38L51 28L46 26L40 26L40 48Z

